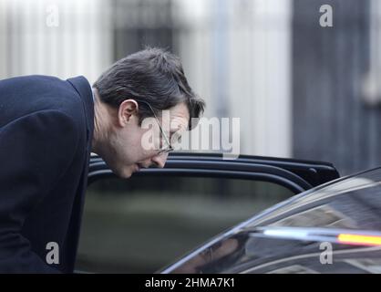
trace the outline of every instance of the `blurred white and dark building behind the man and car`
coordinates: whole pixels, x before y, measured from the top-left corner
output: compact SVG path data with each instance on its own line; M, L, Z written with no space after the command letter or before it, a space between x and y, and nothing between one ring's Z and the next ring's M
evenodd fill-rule
M334 8L322 27L321 5ZM0 78L94 82L145 46L178 54L206 117L241 118L241 152L381 164L377 0L0 0Z

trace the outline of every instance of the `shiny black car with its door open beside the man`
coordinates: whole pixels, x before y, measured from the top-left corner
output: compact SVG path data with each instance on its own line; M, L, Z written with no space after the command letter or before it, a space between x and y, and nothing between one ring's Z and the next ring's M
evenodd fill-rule
M94 156L77 270L379 273L380 181L381 169L340 178L326 162L201 153L122 180Z

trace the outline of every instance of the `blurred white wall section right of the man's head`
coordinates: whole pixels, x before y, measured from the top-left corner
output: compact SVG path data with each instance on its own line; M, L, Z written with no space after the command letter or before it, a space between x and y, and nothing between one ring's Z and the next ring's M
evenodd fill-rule
M222 106L240 117L242 153L290 157L292 1L176 3L176 23L186 28L177 35L180 55L190 84L207 100L205 116Z

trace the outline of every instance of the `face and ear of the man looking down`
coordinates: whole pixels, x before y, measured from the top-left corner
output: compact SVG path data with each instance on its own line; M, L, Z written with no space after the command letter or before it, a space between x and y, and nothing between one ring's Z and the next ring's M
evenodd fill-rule
M176 136L178 136L179 130L182 131L188 128L190 114L184 103L174 106L169 110L169 113L169 125L163 127L163 130L167 137L171 139L174 133L177 133ZM163 126L161 116L158 117L158 120L160 125ZM147 137L149 130L151 130L153 140L160 140L159 127L156 127L156 129L144 129L145 127L142 127L142 125L139 125L138 103L131 99L123 101L118 109L118 118L113 120L112 129L108 134L108 145L105 147L106 153L103 153L103 159L108 164L108 167L122 178L129 178L133 172L138 172L142 167L156 165L162 168L167 161L168 153L159 153L158 149L149 149L142 143L142 139L145 136Z

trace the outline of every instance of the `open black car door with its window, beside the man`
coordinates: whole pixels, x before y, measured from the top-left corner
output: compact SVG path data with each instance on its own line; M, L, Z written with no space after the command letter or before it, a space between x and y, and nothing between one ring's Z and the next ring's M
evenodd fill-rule
M153 273L266 207L338 177L327 162L175 152L165 168L124 180L93 156L76 269Z

